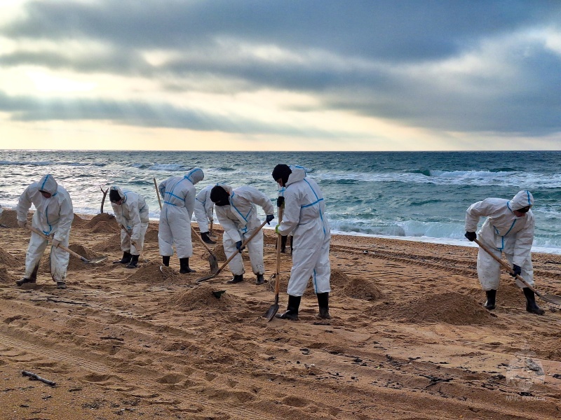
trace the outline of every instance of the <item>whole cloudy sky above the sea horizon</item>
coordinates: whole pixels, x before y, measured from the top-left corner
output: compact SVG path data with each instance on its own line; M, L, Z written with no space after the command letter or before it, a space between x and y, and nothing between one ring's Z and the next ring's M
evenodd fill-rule
M0 0L0 148L561 150L561 1Z

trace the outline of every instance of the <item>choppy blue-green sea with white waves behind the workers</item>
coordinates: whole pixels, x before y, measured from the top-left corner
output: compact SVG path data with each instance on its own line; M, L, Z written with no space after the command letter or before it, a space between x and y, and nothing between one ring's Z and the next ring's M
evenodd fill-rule
M200 167L208 184L252 186L276 202L278 163L300 165L325 196L332 232L473 246L466 209L486 197L534 195L534 251L561 253L561 152L191 152L0 150L0 205L15 208L43 174L64 186L78 214L98 214L102 189L140 193L159 217L154 180ZM104 211L111 212L109 200ZM264 217L261 209L259 214ZM480 224L484 218L480 221ZM274 222L272 223L274 224Z

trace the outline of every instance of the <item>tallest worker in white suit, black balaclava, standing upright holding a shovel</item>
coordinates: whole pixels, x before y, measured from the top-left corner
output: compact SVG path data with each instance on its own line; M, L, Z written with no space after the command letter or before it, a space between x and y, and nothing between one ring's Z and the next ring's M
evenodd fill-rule
M311 278L313 290L318 297L319 318L331 318L329 293L331 267L329 247L331 230L325 215L323 194L313 179L306 176L304 167L276 165L273 179L286 187L283 197L278 197L278 206L284 206L283 221L276 226L276 233L288 235L292 232L292 269L288 281L288 307L278 318L298 320L298 309L304 290Z

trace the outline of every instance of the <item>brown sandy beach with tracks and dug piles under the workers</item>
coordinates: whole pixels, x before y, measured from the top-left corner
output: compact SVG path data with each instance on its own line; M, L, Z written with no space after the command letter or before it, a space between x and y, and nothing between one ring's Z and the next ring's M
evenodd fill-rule
M112 216L76 215L66 290L43 255L35 285L24 272L29 231L15 212L0 223L1 419L559 419L560 307L528 314L504 273L489 312L476 248L337 236L330 313L311 285L300 321L262 317L274 302L275 237L265 232L266 279L210 274L194 241L196 273L160 268L150 223L140 267L121 257ZM212 246L224 262L222 232ZM534 253L536 288L561 295L561 255ZM290 272L281 255L280 311ZM219 298L212 292L225 290ZM30 380L22 371L54 381Z

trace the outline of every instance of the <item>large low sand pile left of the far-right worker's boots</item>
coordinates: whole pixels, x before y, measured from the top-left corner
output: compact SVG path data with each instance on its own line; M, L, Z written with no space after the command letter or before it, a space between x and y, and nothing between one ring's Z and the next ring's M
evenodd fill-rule
M392 318L407 323L444 322L452 325L494 323L494 316L473 297L457 292L426 294L410 301L397 302L390 309Z

